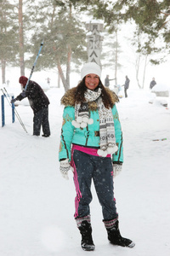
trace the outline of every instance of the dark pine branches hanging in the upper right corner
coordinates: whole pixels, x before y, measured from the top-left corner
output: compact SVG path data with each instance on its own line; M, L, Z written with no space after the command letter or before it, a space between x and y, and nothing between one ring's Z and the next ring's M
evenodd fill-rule
M168 0L116 0L116 1L95 1L98 8L94 10L94 15L103 17L106 26L113 26L114 21L127 22L133 20L136 24L136 32L143 33L145 39L140 48L141 53L150 55L157 53L170 44L170 2ZM166 44L161 44L161 41ZM159 42L159 46L157 46ZM139 49L138 49L139 51ZM159 64L160 60L150 60L154 64Z

